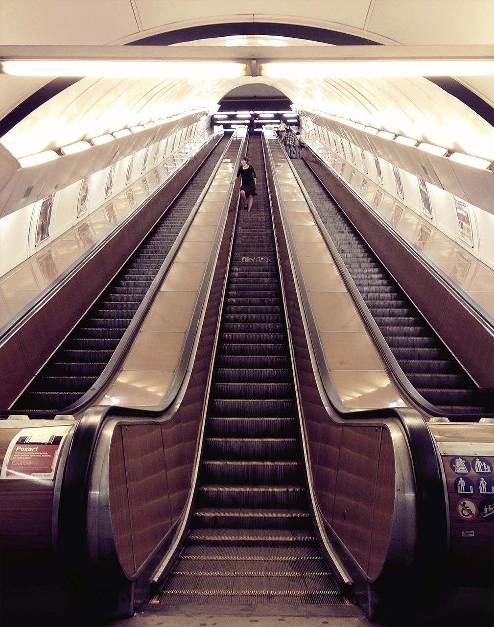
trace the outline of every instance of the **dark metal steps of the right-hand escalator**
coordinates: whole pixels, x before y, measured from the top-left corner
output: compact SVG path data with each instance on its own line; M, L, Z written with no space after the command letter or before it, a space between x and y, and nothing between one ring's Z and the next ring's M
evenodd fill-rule
M486 395L458 364L315 174L301 160L293 160L292 164L365 305L416 391L452 419L455 413L491 413L493 408Z

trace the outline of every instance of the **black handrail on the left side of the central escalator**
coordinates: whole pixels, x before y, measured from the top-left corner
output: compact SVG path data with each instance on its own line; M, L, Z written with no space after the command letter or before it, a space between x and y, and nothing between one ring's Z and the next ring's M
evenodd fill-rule
M241 142L235 163L236 166L239 164L241 154L243 154L242 150L245 140L246 138ZM221 162L221 160L219 161ZM229 186L221 216L224 216L224 212L228 211L232 195L234 194L234 187L235 186ZM223 220L220 219L219 226L222 221ZM218 233L219 231L220 229L218 228ZM219 245L219 241L217 240L218 238L215 237L214 243L216 246L212 247L207 264L207 268L212 268L213 270L215 265L213 261L216 262L216 255L214 253ZM206 285L208 282L204 280L203 283ZM199 308L200 300L197 298L196 308L194 310L194 316L196 315L196 310L198 311L197 320L200 315L199 309L202 309L205 304L206 294L206 288L202 290L201 286L202 304ZM189 325L184 344L187 344L190 350L182 351L179 365L177 366L177 372L181 374L176 377L174 396L172 396L171 393L167 394L166 404L162 403L160 409L135 409L116 405L93 406L85 411L75 425L65 460L65 466L63 467L58 504L58 524L56 525L58 528L58 537L56 540L57 551L60 556L63 572L68 578L69 586L72 590L74 590L80 582L81 577L78 575L78 572L86 572L87 568L87 515L90 477L95 451L103 427L108 420L115 416L119 417L120 422L122 422L122 419L125 420L125 418L132 422L146 421L146 423L163 423L164 421L170 421L178 408L176 398L179 396L180 387L186 378L192 345L194 344L194 339L198 332L199 329L196 324ZM192 337L192 335L194 337ZM179 384L180 379L181 382Z

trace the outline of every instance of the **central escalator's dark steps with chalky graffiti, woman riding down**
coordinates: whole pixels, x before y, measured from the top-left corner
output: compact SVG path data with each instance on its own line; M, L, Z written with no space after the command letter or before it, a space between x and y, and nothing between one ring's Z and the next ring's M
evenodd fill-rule
M195 509L164 604L348 605L307 498L260 139L251 213L239 209Z

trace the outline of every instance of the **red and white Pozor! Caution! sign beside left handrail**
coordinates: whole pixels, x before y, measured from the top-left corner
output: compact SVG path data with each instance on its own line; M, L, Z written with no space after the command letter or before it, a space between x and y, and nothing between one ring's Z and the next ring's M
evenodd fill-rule
M69 429L70 425L22 429L9 444L0 479L53 479Z

